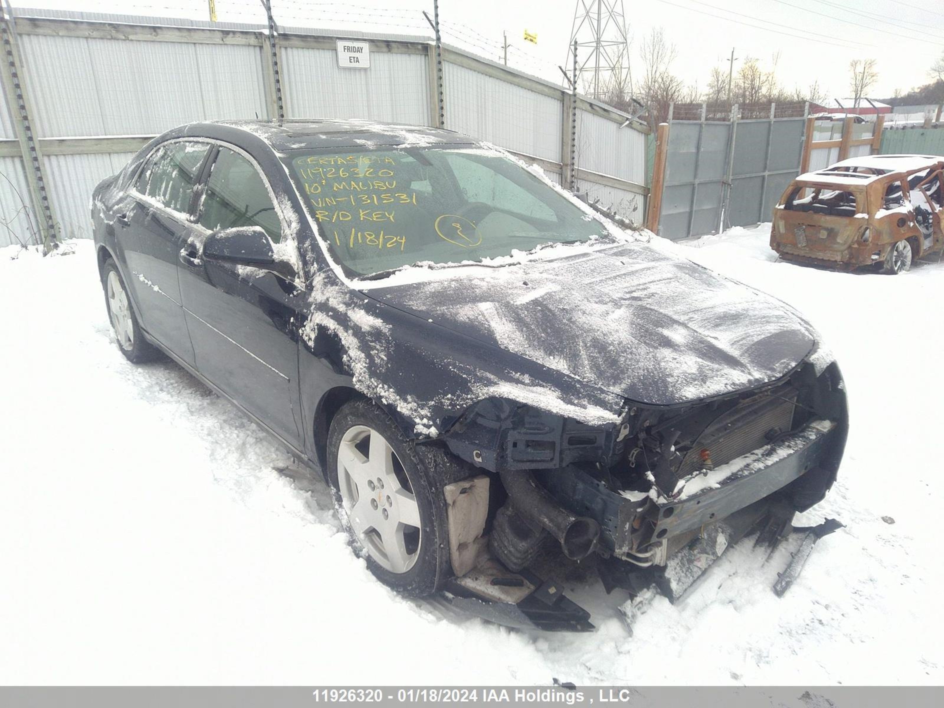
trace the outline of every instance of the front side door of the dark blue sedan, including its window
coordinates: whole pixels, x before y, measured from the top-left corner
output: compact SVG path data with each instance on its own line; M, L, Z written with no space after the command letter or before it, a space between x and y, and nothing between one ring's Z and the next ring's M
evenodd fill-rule
M200 258L200 244L211 231L259 226L278 244L285 222L255 160L228 147L219 147L210 160L198 223L178 264L196 369L279 437L301 447L301 291L267 271Z

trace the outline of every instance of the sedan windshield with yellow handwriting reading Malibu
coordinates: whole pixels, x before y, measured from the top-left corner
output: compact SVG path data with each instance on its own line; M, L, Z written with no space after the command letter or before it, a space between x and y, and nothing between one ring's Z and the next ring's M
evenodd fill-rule
M291 154L292 176L348 275L587 241L604 226L512 160L415 148Z

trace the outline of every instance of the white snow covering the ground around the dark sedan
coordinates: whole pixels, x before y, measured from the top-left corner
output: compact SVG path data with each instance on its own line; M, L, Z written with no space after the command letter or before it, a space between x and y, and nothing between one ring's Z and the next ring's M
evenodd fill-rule
M851 436L839 481L789 557L743 543L632 635L598 587L598 632L445 619L386 590L329 496L171 362L134 366L111 334L90 242L0 251L0 683L940 683L944 265L897 278L775 262L768 227L679 245L783 298L833 348ZM697 297L698 294L693 294ZM883 517L894 519L888 523Z

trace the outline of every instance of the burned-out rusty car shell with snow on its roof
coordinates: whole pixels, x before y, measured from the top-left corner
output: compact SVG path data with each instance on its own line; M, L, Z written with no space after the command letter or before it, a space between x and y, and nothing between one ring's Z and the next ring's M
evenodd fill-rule
M911 245L915 259L939 251L944 248L942 167L944 159L939 157L872 155L801 175L774 208L770 247L785 261L849 270L884 262L900 241ZM851 194L856 203L854 209L848 204L817 204L806 210L793 204L795 198L801 201L798 190L804 189ZM916 218L916 199L923 210L923 229Z

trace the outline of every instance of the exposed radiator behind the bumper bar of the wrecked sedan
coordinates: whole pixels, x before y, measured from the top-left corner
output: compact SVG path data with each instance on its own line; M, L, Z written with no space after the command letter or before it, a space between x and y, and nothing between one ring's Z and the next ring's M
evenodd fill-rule
M773 393L776 396L744 401L716 418L685 453L675 472L679 479L764 447L770 442L767 433L771 430L790 430L797 392L786 388Z

